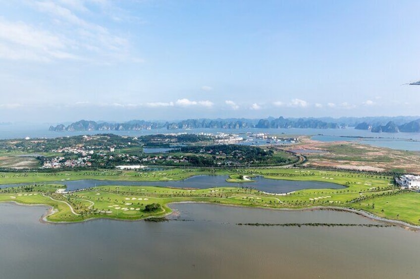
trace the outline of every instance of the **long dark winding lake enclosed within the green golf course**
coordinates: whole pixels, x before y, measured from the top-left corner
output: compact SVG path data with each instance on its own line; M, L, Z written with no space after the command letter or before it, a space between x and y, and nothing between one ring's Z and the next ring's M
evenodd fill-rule
M197 175L184 180L177 181L112 181L112 180L66 180L66 181L52 181L49 183L57 183L66 185L67 191L73 191L84 188L92 188L103 185L118 185L118 186L159 186L159 187L173 187L173 188L197 188L207 189L212 187L252 187L257 190L267 193L289 193L302 189L344 189L343 185L329 182L319 181L292 181L280 179L265 179L261 176L252 178L255 182L247 183L230 183L226 182L228 175ZM22 184L0 184L0 188L9 188L16 186L24 186L28 183Z

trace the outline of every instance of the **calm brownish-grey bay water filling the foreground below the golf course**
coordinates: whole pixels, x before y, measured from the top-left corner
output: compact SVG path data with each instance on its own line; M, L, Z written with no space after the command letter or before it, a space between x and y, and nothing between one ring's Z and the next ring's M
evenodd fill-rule
M0 204L1 278L418 278L419 233L336 211L172 204L179 219L42 224L44 207Z

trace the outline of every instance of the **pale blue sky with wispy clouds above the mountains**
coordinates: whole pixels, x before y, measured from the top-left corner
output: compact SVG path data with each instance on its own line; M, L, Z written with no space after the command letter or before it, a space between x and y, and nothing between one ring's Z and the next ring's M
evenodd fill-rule
M0 0L0 122L420 115L419 10Z

